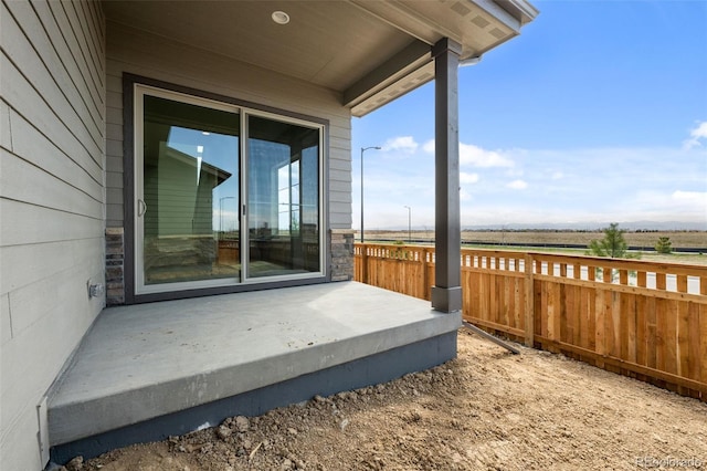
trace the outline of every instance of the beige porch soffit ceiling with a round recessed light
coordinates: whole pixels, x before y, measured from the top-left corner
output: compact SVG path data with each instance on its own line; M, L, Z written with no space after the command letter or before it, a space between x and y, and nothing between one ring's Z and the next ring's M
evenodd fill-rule
M341 94L356 116L434 77L442 38L462 57L518 34L537 11L525 0L130 1L104 0L126 24L300 78ZM291 21L277 24L274 11Z

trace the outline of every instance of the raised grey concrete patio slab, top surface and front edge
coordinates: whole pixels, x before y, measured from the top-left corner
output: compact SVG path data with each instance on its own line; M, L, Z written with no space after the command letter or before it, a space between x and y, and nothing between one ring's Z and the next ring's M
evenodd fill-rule
M367 357L380 362L379 354L445 334L454 333L455 346L460 326L460 313L356 282L106 308L50 396L50 442L73 442ZM443 353L418 364L446 359ZM405 362L404 369L415 369L414 358ZM328 381L323 388L330 394ZM317 385L308 388L312 394Z

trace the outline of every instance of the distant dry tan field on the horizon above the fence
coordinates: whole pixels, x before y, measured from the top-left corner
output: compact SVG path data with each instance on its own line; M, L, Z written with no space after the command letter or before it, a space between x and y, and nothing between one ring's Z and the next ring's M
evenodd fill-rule
M432 240L433 231L412 231L411 238L414 240ZM514 244L572 244L589 245L592 240L603 239L604 234L598 232L576 232L576 231L462 231L462 242L494 243L503 245ZM705 231L661 231L661 232L625 232L624 239L629 245L654 247L658 238L667 237L674 248L706 248L707 232ZM366 238L370 241L376 239L407 240L408 231L367 231Z

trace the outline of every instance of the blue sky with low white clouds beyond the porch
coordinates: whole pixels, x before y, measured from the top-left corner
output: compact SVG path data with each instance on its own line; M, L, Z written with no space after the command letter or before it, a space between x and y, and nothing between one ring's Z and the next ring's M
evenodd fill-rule
M707 224L707 0L556 0L460 69L462 226ZM434 84L352 123L354 227L434 227ZM645 224L651 226L651 224Z

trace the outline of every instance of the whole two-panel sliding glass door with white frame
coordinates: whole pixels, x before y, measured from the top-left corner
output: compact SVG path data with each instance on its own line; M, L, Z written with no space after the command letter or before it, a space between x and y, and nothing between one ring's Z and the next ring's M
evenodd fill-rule
M139 85L135 111L137 294L323 274L320 125Z

